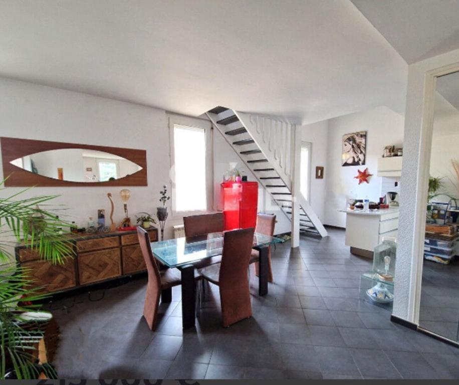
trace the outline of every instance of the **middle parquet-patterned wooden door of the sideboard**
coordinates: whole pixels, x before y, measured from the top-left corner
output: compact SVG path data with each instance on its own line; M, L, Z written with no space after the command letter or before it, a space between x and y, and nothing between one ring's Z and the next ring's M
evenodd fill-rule
M80 285L121 275L120 249L107 249L78 255Z

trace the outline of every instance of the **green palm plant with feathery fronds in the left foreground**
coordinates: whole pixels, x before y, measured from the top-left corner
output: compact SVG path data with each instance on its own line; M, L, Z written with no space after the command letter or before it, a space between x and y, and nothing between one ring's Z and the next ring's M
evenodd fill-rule
M27 190L0 197L0 379L8 371L19 379L37 378L41 371L55 377L51 366L38 367L34 362L36 344L43 337L40 322L26 321L21 316L26 311L36 311L40 305L34 302L46 295L40 294L40 288L31 287L27 269L13 263L14 245L23 242L53 264L63 263L66 256L73 255L70 239L59 231L69 224L59 220L54 213L56 208L38 207L48 205L56 196L18 199Z

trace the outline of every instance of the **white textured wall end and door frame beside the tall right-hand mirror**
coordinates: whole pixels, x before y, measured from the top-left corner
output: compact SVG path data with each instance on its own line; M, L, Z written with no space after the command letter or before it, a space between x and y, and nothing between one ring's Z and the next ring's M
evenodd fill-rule
M422 276L422 243L429 173L431 127L423 126L428 71L459 62L459 50L423 60L408 67L405 140L401 177L400 217L393 314L418 323ZM428 89L428 88L427 88ZM433 94L433 90L432 94ZM433 96L432 96L433 102Z

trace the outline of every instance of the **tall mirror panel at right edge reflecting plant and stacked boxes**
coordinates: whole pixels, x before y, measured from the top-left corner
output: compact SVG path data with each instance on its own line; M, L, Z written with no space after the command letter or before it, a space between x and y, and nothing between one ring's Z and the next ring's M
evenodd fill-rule
M437 78L419 326L458 341L459 72Z

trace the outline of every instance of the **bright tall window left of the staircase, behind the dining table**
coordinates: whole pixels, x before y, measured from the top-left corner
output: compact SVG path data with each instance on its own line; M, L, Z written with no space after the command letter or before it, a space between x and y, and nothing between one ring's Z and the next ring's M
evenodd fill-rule
M209 196L212 195L212 189L209 188L212 183L211 166L208 164L211 160L208 147L211 146L207 144L210 125L206 129L179 124L171 119L171 128L172 210L181 213L206 211Z

